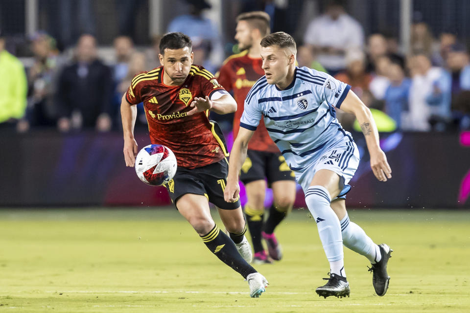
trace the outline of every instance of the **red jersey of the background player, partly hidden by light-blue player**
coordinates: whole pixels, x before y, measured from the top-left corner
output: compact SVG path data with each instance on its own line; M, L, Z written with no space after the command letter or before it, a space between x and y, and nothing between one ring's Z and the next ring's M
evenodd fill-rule
M264 70L261 68L261 59L252 59L248 57L248 50L234 54L225 60L224 64L217 73L217 80L227 91L233 90L234 98L237 104L237 110L234 118L234 138L240 128L240 118L243 114L246 95L255 85L256 81L264 76ZM279 148L273 142L264 126L264 121L259 121L258 128L253 134L248 149L279 152Z

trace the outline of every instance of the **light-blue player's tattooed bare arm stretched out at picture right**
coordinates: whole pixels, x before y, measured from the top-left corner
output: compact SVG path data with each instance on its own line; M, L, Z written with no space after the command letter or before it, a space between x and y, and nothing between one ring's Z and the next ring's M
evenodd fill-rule
M380 149L377 126L371 110L351 90L349 90L340 108L344 112L354 114L359 122L362 133L366 138L367 148L371 155L371 167L376 178L380 181L387 181L387 179L392 178L392 170L387 162L387 157Z

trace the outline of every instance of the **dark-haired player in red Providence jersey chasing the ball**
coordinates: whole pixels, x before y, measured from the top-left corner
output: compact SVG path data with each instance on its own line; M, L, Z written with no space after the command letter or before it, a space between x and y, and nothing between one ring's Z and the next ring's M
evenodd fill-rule
M192 65L191 47L187 35L166 34L160 42L162 66L132 80L121 101L124 158L134 166L136 105L143 102L151 143L170 148L178 162L166 184L171 200L211 252L248 281L250 296L258 297L267 281L249 265L253 255L240 201L224 200L228 153L223 134L208 119L209 111L234 112L236 103L209 71ZM230 237L212 220L209 201L218 207Z

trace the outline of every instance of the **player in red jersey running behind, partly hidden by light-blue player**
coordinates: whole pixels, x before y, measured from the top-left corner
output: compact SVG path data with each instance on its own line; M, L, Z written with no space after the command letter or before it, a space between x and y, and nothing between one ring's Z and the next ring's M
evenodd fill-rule
M256 81L264 76L261 68L261 39L269 34L269 15L262 11L240 14L236 18L235 40L243 52L230 56L220 68L217 79L229 91L234 92L237 111L234 118L234 137L238 134L245 97ZM274 202L264 218L266 181L273 189ZM281 260L282 250L274 229L292 209L295 201L294 173L286 164L279 148L273 142L261 120L248 146L248 154L240 172L245 185L247 203L245 214L255 250L254 263L271 263L261 244L261 237L268 247L269 256Z

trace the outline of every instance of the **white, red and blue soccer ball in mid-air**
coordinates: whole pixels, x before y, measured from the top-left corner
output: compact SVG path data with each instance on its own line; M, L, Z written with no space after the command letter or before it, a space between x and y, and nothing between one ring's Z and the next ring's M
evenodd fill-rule
M136 157L137 176L150 186L161 186L173 179L176 168L175 155L162 145L143 147Z

